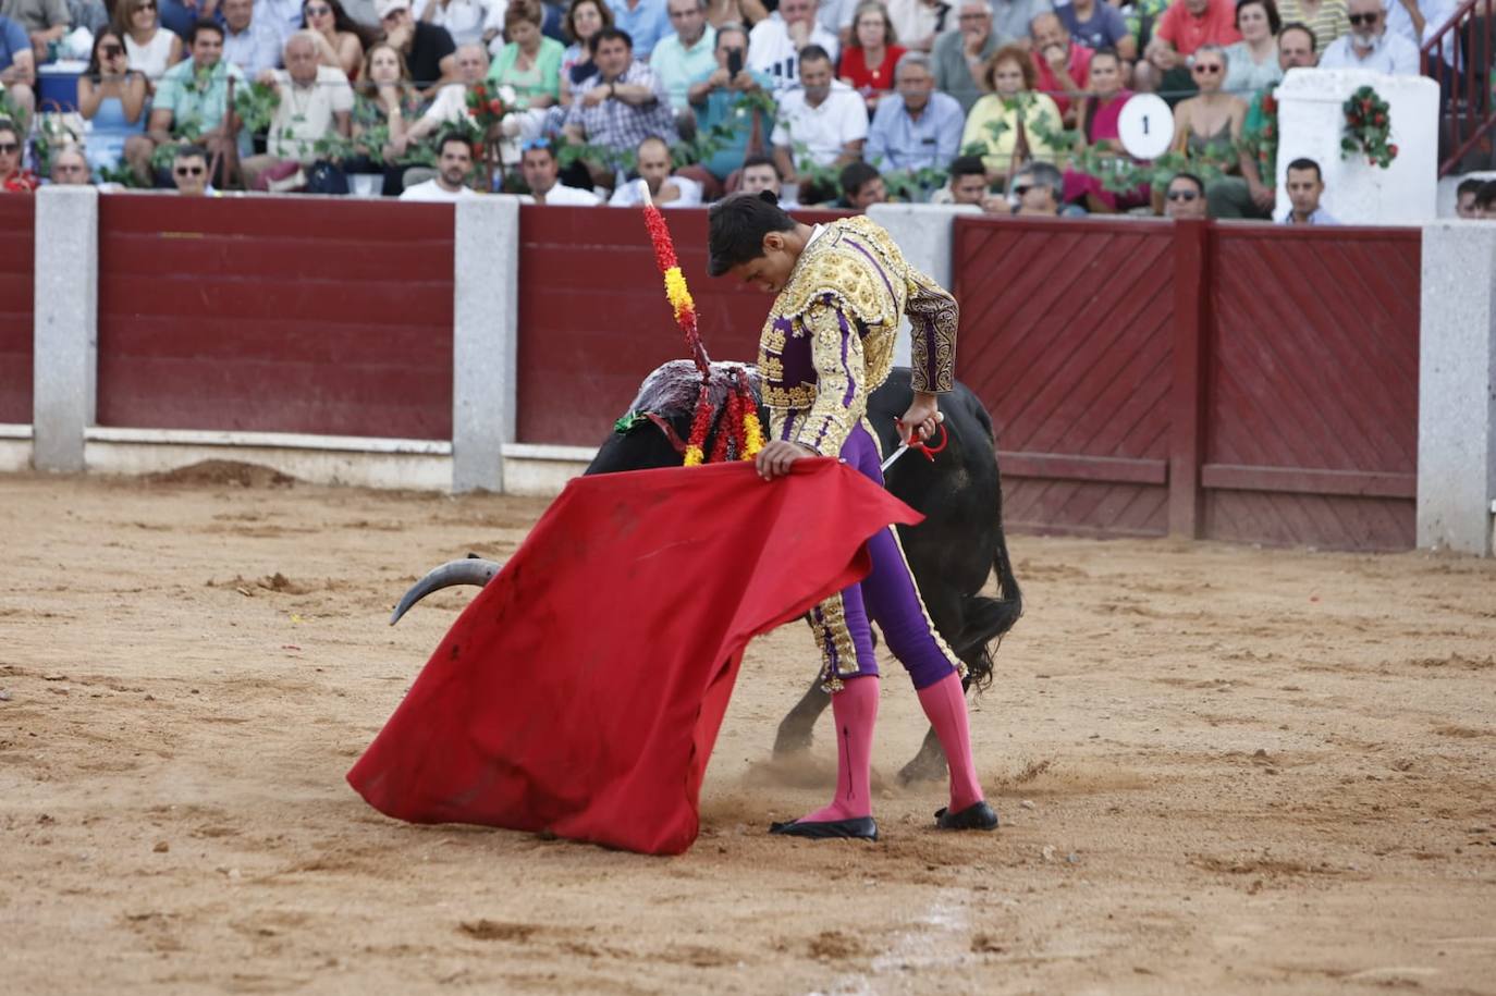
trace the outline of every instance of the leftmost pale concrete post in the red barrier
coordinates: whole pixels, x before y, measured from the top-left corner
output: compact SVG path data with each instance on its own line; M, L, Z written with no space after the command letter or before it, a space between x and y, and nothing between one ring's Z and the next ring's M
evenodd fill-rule
M94 422L99 375L99 191L36 193L36 302L31 462L84 470L84 429Z

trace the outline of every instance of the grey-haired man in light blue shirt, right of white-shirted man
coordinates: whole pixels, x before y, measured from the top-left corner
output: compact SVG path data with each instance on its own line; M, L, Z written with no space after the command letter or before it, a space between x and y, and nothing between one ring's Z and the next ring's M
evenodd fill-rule
M868 162L884 170L944 169L960 151L960 105L935 91L923 52L905 52L895 78L898 99L881 102L868 127Z

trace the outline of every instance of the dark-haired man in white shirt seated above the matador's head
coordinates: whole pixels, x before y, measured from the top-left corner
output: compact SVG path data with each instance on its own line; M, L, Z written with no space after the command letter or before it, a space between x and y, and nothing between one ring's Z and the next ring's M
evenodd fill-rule
M802 165L841 169L862 159L862 145L868 141L868 108L856 90L832 76L832 57L826 49L806 45L800 52L800 85L782 93L779 121L769 141L785 182L800 182L796 147L805 150L808 162ZM800 194L802 202L812 203L811 194L803 190ZM832 191L817 200L835 196Z

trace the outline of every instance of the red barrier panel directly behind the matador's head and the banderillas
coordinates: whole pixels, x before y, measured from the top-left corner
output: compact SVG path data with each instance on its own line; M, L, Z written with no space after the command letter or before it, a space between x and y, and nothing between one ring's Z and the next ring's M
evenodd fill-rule
M706 211L666 211L706 351L752 362L772 298L706 275ZM811 223L833 214L797 214ZM597 446L655 366L687 359L639 211L519 212L519 422L525 443Z

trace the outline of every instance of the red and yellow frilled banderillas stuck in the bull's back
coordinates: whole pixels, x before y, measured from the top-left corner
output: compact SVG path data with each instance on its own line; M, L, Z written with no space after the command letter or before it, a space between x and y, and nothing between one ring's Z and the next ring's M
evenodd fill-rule
M675 242L670 239L670 227L660 214L660 208L645 202L645 227L649 229L649 241L654 245L655 263L664 275L664 293L675 313L675 323L685 333L685 344L691 348L691 360L702 372L702 389L696 396L696 414L691 417L691 438L685 444L685 465L699 467L706 461L706 434L712 428L712 398L711 398L711 360L706 357L706 347L702 345L702 331L696 322L696 302L691 290L685 286L685 275L681 272L681 260L675 254ZM729 438L738 453L738 459L751 461L763 449L763 426L758 425L758 405L752 399L748 386L748 374L742 366L736 369L736 383L727 395L727 429L717 434L712 446L712 462L727 459Z

